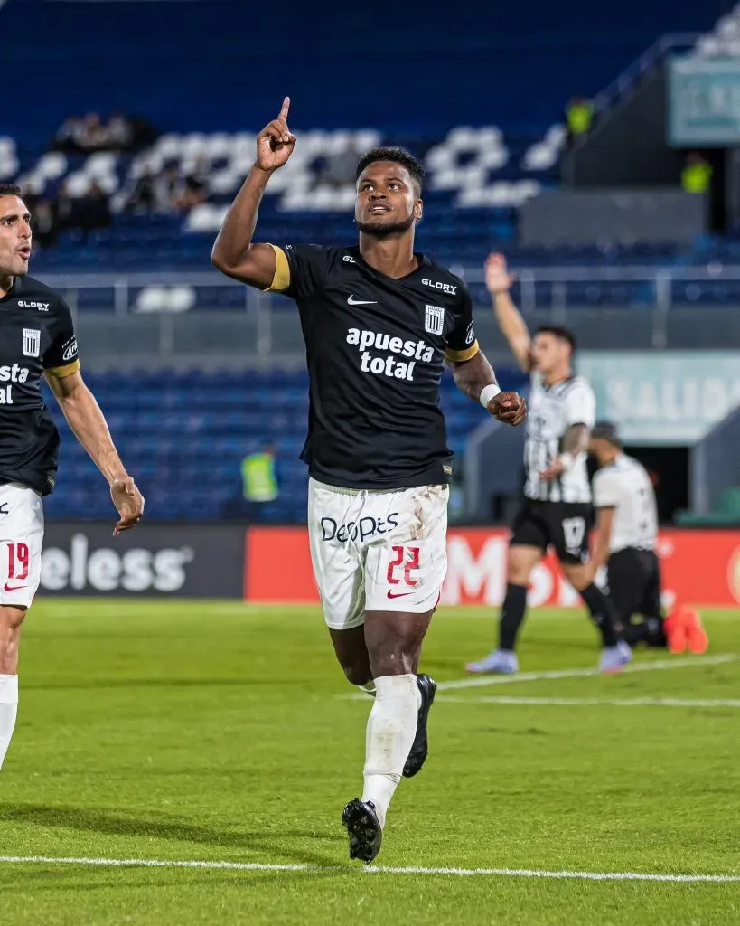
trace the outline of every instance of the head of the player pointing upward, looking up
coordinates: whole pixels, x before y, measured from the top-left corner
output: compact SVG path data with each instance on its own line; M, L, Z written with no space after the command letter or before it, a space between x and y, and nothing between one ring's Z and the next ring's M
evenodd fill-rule
M361 232L405 232L422 217L422 201L409 171L393 161L368 164L357 181L354 218Z

